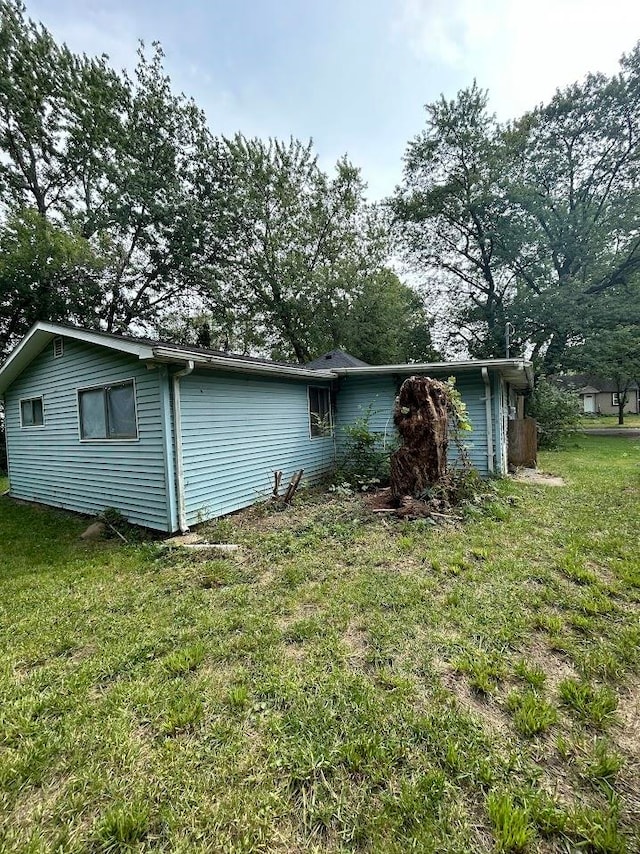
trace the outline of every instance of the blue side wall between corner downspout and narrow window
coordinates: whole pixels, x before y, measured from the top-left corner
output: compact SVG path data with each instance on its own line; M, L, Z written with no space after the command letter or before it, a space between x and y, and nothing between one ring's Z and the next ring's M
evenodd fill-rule
M285 486L298 469L305 481L331 470L334 440L310 437L307 386L210 371L180 380L187 524L270 495L274 471Z

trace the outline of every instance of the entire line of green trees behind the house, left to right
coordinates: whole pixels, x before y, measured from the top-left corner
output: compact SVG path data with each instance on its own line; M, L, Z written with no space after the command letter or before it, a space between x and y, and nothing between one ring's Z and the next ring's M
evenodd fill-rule
M216 136L159 45L117 72L0 0L0 358L47 319L419 361L437 311L450 351L503 356L509 327L512 352L571 370L640 335L639 140L640 45L508 123L474 82L427 105L372 205L346 156Z

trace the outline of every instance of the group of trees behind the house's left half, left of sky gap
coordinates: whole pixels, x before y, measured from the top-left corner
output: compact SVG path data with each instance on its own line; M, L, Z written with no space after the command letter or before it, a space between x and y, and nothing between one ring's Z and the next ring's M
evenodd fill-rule
M39 319L180 337L206 316L212 346L306 361L358 350L365 302L369 355L426 352L364 191L311 143L216 137L159 45L118 73L0 0L0 357Z

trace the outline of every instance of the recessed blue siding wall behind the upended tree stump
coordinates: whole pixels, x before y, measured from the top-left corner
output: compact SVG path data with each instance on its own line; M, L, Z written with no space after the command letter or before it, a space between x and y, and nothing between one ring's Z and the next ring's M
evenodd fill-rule
M396 431L393 425L393 405L402 379L404 377L394 378L390 375L343 377L340 379L336 406L338 460L341 449L344 448L344 428L352 424L356 418L363 417L368 407L371 407L370 429L379 433L383 441L390 442L396 439ZM467 445L473 467L480 475L487 477L489 466L484 381L478 370L477 376L468 373L460 374L456 378L456 385L467 406L469 419L473 425L473 431L464 433L462 438ZM491 378L491 386L495 470L498 474L506 474L506 462L501 468L503 464L501 463L500 448L503 426L500 380L497 376ZM457 454L454 446L449 447L449 456L451 461L455 460Z

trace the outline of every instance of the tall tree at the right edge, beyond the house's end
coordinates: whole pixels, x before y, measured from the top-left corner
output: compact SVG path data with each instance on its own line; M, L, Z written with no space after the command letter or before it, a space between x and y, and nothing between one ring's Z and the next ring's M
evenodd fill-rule
M515 122L505 144L522 223L512 314L551 371L604 325L606 303L640 297L640 47L619 75L589 75Z

